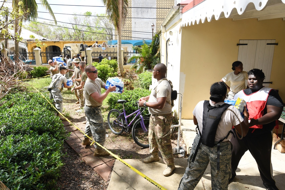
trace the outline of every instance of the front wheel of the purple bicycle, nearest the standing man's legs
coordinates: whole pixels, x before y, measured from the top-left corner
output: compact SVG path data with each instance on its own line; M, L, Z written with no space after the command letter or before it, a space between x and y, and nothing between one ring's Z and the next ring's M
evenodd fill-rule
M143 117L144 126L146 128L146 131L143 130L143 126L141 125L141 118L138 119L133 128L132 128L132 137L137 143L137 145L148 148L149 142L148 142L148 126L149 126L149 117Z

